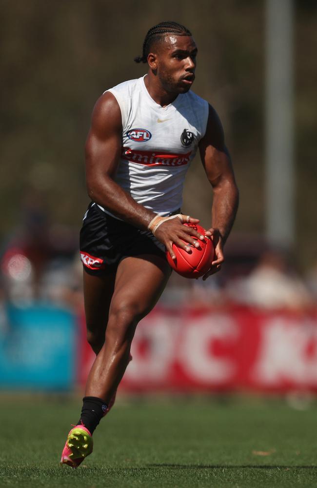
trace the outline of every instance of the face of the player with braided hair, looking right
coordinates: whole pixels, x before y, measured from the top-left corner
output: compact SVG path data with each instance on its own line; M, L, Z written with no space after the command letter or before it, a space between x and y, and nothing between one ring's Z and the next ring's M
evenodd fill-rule
M157 76L167 92L186 93L195 80L197 46L191 36L167 34L156 46Z

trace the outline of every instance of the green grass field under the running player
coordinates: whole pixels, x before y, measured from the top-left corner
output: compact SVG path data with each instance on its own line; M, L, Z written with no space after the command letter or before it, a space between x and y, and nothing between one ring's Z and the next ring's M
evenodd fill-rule
M316 487L317 406L282 400L121 400L84 466L59 466L79 400L0 400L1 487Z

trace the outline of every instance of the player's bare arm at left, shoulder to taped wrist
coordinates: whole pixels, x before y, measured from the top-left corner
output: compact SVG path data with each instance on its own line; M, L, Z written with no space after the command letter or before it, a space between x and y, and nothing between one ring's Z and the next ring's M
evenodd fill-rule
M85 146L89 197L114 215L146 229L155 213L137 203L113 180L121 152L121 112L110 92L95 105Z

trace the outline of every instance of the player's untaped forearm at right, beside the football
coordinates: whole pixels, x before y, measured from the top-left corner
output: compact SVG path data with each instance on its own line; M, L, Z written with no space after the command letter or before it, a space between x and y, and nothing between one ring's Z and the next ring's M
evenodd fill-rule
M212 227L219 229L224 244L230 234L238 210L238 188L234 181L214 187Z

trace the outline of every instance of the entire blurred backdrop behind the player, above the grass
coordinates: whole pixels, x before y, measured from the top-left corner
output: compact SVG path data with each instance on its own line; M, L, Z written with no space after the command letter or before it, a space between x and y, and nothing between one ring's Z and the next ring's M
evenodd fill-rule
M317 390L316 1L0 4L2 391L82 389L84 142L102 92L145 74L133 58L162 20L193 32L240 207L221 273L174 273L139 324L121 391ZM211 204L197 158L183 211L207 227Z

